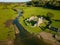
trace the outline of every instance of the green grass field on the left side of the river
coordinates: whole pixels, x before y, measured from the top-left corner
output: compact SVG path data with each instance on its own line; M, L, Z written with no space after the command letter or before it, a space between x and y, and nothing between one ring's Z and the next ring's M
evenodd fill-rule
M8 39L8 34L10 35L10 38L14 38L13 26L5 27L5 22L14 19L16 16L17 14L15 14L13 10L0 8L0 41ZM9 33L9 31L11 32Z

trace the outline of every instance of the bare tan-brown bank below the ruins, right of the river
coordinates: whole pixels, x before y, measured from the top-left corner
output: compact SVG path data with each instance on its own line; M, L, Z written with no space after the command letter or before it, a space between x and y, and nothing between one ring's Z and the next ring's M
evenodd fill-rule
M53 34L47 32L40 32L37 37L42 39L44 42L49 43L51 45L60 45L60 43L53 38Z

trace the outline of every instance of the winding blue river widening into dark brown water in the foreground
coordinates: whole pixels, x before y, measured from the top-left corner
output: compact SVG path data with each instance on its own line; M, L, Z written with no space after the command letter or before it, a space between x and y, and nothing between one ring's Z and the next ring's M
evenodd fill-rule
M24 27L18 21L20 16L22 16L21 12L13 21L13 24L16 25L20 32L16 35L14 45L48 45L47 43L38 39L36 36L30 34L27 30L24 29Z

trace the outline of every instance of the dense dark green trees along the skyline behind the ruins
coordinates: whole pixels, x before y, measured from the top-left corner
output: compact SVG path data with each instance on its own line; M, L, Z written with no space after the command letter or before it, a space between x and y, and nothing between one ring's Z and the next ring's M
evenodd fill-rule
M35 7L60 9L60 1L59 0L32 0L30 2L27 2L27 5L35 6Z

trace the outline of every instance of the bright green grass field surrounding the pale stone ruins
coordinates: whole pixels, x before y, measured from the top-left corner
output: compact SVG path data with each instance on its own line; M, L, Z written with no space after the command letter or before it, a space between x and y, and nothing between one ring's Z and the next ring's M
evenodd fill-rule
M34 34L37 34L39 32L41 32L42 30L39 28L39 27L31 27L31 26L26 26L24 21L26 18L29 18L33 15L37 16L37 15L45 15L48 13L48 12L51 12L54 14L54 17L52 19L55 19L55 20L60 20L60 11L59 10L52 10L52 9L46 9L46 8L41 8L41 7L25 7L23 8L24 10L24 14L23 14L23 17L21 17L19 19L20 23L23 25L23 27L25 29L27 29L27 31L29 31L30 33L34 33ZM57 28L60 28L60 22L54 22L51 24L52 26L54 27L57 27ZM50 30L46 30L47 32L51 32ZM54 32L53 32L54 33Z

